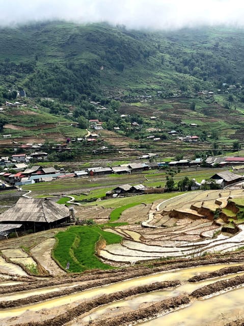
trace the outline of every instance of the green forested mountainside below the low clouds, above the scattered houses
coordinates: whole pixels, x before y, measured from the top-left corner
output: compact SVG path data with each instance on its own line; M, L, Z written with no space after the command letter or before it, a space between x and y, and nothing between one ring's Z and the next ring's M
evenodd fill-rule
M2 101L12 89L78 103L119 92L167 97L244 83L244 31L237 29L149 32L39 22L1 29L0 47Z

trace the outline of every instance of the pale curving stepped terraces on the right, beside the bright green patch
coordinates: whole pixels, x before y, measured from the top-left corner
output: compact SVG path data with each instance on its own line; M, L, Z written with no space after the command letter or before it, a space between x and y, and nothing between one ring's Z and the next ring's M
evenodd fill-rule
M181 195L162 203L157 201L149 210L148 228L138 225L115 228L115 232L127 240L106 246L99 255L105 261L134 263L159 257L191 257L236 250L244 245L244 227L240 224L237 233L224 235L213 215L222 207L222 214L230 211L229 218L235 216L225 205L229 198L238 198L241 193L240 190L208 191ZM134 239L128 231L140 236Z

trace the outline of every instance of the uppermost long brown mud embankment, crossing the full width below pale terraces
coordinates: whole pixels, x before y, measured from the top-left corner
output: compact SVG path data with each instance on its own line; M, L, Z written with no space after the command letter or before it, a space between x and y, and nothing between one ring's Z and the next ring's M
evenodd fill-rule
M89 285L84 285L82 290L97 287L100 285L107 285L112 283L117 283L120 281L128 280L131 278L137 278L142 276L148 276L162 271L195 267L199 265L210 265L210 264L221 264L221 263L230 263L230 262L241 262L244 261L244 251L239 251L235 253L229 253L228 255L209 255L196 258L178 258L174 260L164 260L164 261L151 261L150 268L145 265L136 264L128 268L121 269L111 269L111 270L93 270L86 271L82 275L80 274L67 274L67 276L59 278L51 278L50 280L45 281L36 281L33 279L33 282L28 284L28 290L40 289L44 287L50 287L60 284L68 284L75 282L90 282ZM218 268L218 267L216 267ZM92 282L94 281L94 282ZM2 286L1 293L13 293L26 291L26 285L13 285ZM73 291L78 291L77 287ZM62 291L59 291L58 296L62 295ZM42 299L40 299L42 300Z

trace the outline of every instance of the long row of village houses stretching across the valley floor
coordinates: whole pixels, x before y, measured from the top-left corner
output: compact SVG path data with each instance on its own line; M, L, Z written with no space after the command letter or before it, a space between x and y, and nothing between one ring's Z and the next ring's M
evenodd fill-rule
M37 157L45 158L47 153L37 152L31 155L36 155ZM41 155L41 156L40 156ZM43 156L42 156L43 155ZM148 153L139 157L140 159L155 159L156 154ZM148 170L157 170L165 167L174 168L174 167L200 167L202 164L201 158L196 158L194 160L189 159L180 159L170 162L165 161L147 161L147 162L137 162L129 164L121 164L115 167L93 167L87 168L82 171L73 171L71 173L65 172L64 169L56 170L53 167L45 168L41 165L34 165L28 167L28 160L26 161L25 154L14 154L12 155L12 164L6 164L7 157L2 157L0 159L0 165L6 165L7 167L3 172L0 173L0 188L6 188L9 186L22 186L33 184L36 182L45 182L52 181L61 178L71 178L71 177L86 177L86 176L101 176L109 174L132 174L137 172L143 172ZM7 161L10 163L10 161ZM232 166L233 168L242 167L244 168L244 157L208 157L205 162L205 165L209 167L214 166ZM14 170L14 173L11 173L11 170ZM10 171L9 171L10 170ZM235 175L236 176L236 175ZM238 175L236 179L240 176ZM237 181L236 181L237 182ZM219 181L218 181L219 183ZM224 184L224 183L223 183ZM220 185L223 185L220 181Z

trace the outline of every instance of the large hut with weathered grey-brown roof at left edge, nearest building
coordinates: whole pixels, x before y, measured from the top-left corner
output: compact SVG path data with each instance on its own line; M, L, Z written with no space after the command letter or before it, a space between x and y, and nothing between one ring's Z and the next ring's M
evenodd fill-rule
M41 225L64 222L69 208L44 198L20 198L0 215L0 223L36 223Z

